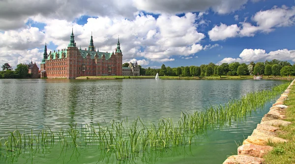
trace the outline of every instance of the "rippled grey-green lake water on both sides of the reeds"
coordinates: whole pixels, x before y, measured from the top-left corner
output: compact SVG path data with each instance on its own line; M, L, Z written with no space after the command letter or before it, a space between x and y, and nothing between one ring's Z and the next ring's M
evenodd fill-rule
M89 124L161 117L178 120L181 111L202 111L208 105L224 104L248 92L270 89L284 81L270 80L0 80L0 138L19 130L38 133L49 126L53 131L68 128L69 123ZM236 142L250 135L272 102L253 113L247 121L208 131L192 146L173 147L161 153L147 153L135 163L219 164L236 153ZM235 142L236 141L236 142ZM57 145L48 151L22 154L4 163L95 164L105 157L97 147L61 150ZM5 161L6 160L6 161ZM121 163L114 156L102 163ZM100 162L99 162L100 163Z

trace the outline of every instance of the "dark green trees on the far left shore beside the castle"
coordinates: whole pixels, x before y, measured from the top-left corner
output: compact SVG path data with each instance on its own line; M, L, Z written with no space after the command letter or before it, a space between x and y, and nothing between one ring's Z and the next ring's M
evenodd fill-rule
M29 68L25 64L19 64L16 69L13 70L12 67L5 63L2 65L2 71L0 71L0 78L11 79L11 78L29 78Z

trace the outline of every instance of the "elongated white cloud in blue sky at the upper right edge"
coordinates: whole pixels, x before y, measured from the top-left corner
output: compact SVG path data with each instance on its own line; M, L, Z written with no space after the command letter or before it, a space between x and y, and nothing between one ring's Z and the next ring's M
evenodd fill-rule
M219 26L215 25L208 35L210 40L226 40L233 37L253 37L259 31L271 32L275 27L291 26L295 23L295 6L287 8L282 6L281 8L273 7L266 11L259 11L253 17L257 26L251 23L241 22L240 26L237 24L226 25L221 23ZM236 16L235 16L236 18Z

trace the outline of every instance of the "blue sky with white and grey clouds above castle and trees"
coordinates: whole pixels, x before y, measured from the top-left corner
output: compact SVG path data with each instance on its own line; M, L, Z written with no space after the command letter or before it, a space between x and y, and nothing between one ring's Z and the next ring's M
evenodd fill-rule
M295 62L295 0L0 0L0 65L36 62L45 43L112 52L143 68Z

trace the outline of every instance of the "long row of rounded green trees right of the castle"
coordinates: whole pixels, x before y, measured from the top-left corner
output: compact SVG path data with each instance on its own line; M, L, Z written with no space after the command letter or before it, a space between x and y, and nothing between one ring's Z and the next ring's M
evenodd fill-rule
M128 63L127 63L128 64ZM126 63L123 65L126 66ZM159 76L235 76L235 75L273 75L273 76L289 76L295 75L295 65L291 65L288 61L280 61L273 59L271 61L265 62L251 62L250 64L245 63L222 63L221 65L216 65L214 63L209 63L207 65L203 64L201 66L190 66L190 67L177 67L171 68L166 67L164 64L160 69L144 69L140 66L141 75L156 75Z

